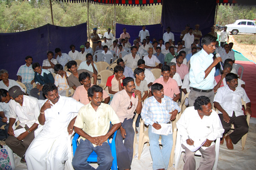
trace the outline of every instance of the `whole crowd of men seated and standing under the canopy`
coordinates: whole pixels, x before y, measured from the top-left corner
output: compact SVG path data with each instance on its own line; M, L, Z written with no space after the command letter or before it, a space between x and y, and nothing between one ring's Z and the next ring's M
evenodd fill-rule
M97 169L109 170L113 157L107 139L117 130L117 165L119 170L129 170L134 135L138 133L132 126L137 113L136 127L140 118L148 126L152 167L164 170L168 168L173 145L169 127L179 113L177 129L181 136L177 138L185 149L184 169L195 170L195 147L202 153L199 169L212 169L214 141L221 138L223 144L225 139L227 148L233 149L233 144L248 132L241 99L246 102L245 114L251 114L250 99L244 91L245 82L232 67L235 57L233 43L227 43L227 28L220 33L221 45L214 27L204 36L199 28L199 24L195 29L187 24L175 43L170 27L163 38L153 38L151 42L149 31L142 26L133 45L128 41L131 37L126 28L116 40L109 28L103 42L97 28L93 28L92 48L90 42L79 46L81 52L76 51L75 45L70 45L68 54L55 48L55 53L47 52L42 65L27 56L26 64L17 72L17 81L26 86L26 94L20 84L9 79L7 70L0 70L0 139L21 157L21 162L26 162L29 170L61 170L68 159L67 137L74 130L80 136L72 161L74 169L94 169L87 158L95 151ZM128 54L119 55L126 49ZM114 51L118 58L105 89L96 85L98 68L93 53L97 50L103 54ZM82 61L79 65L77 59ZM157 79L151 72L153 68L161 69ZM70 88L75 93L67 97ZM186 110L180 113L177 102L182 92L189 93L189 97ZM218 113L212 110L213 105ZM78 115L73 118L73 113ZM20 124L14 130L16 119ZM231 123L236 128L227 133ZM35 136L38 125L43 125L43 130Z

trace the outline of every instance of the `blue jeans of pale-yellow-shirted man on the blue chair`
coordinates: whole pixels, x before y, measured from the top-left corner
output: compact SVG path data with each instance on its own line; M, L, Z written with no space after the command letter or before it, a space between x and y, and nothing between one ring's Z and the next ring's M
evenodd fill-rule
M93 147L93 144L85 139L80 140L80 144L76 148L76 153L73 157L72 165L76 170L95 170L94 167L88 164L87 159L92 152L97 153L97 162L99 167L97 170L109 170L112 166L113 156L108 142L103 142L102 146Z

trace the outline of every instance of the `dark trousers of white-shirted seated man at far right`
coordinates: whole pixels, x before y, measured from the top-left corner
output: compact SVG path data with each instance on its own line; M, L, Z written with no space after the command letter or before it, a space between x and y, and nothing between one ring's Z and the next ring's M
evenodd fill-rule
M230 122L227 123L223 120L223 115L218 114L221 119L221 124L224 128L224 133L226 134L230 128L231 123L234 124L235 130L229 135L230 139L232 140L233 144L237 144L237 142L248 132L249 126L246 121L246 117L244 115L237 116L235 115L235 112L233 112L232 117L230 117Z

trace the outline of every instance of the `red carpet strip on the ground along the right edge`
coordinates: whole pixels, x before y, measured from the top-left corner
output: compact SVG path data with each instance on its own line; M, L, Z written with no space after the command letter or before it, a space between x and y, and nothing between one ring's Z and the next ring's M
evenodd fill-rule
M244 67L244 73L242 80L245 82L245 91L251 102L252 117L256 117L256 64L250 61L237 61L237 64L241 64ZM238 71L240 75L241 68Z

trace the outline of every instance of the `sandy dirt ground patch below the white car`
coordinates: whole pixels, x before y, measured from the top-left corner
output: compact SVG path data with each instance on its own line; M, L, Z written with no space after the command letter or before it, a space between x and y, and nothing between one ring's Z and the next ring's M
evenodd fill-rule
M255 36L255 35L252 35ZM233 49L236 51L239 51L241 54L244 55L247 59L252 60L256 63L256 45L245 45L245 44L239 44L236 42L234 37L230 35L229 42L233 42Z

